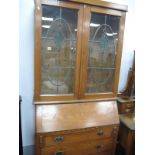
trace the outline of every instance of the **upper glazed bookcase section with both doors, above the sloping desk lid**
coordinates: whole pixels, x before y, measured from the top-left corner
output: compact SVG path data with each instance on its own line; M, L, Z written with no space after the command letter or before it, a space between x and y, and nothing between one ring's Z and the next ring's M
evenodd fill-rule
M36 3L35 101L117 96L125 12L110 6Z

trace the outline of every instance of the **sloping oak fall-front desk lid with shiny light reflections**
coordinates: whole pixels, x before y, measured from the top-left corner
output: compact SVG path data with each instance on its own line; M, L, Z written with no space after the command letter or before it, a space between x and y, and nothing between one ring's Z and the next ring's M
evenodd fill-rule
M36 106L37 133L118 123L116 101Z

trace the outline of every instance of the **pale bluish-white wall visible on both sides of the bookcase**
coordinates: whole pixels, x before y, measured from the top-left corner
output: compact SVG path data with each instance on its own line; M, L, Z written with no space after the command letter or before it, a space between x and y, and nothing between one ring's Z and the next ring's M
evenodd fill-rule
M109 2L127 4L126 28L119 81L121 91L127 80L129 67L132 65L134 50L133 13L134 0L108 0ZM34 92L34 2L20 0L20 51L19 51L19 93L22 95L22 132L23 145L34 144L35 118L33 105Z

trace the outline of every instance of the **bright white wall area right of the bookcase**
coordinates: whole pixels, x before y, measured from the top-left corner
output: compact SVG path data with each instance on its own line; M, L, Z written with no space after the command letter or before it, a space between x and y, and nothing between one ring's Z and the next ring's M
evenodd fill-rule
M118 4L128 5L128 12L126 14L125 32L124 32L124 44L123 54L121 61L121 71L118 91L122 91L127 82L127 76L129 68L133 63L133 51L135 50L135 33L134 33L134 3L135 0L105 0L107 2L113 2Z

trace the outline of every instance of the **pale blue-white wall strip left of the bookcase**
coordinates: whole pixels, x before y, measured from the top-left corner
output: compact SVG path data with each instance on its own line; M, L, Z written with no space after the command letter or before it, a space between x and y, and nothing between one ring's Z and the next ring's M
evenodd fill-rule
M23 145L34 144L34 10L33 0L20 0L19 93L22 95Z

